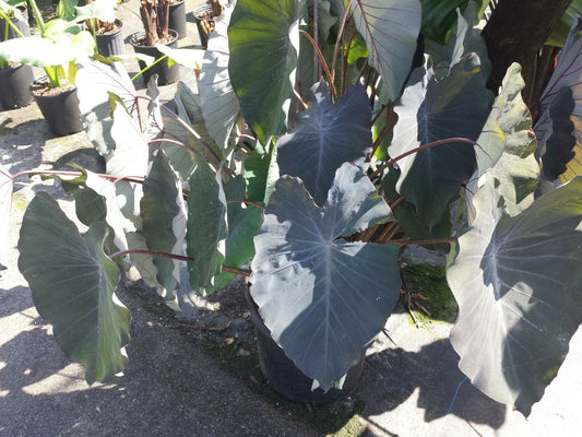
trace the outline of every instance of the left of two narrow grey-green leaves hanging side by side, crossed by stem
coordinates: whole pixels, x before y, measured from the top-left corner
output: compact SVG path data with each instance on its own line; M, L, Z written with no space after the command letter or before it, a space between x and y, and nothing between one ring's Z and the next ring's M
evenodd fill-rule
M140 202L142 234L152 251L182 255L186 237L187 211L181 184L163 151L152 158L152 166L143 181ZM174 291L180 280L179 261L154 257L156 280L162 285L158 293L175 299Z

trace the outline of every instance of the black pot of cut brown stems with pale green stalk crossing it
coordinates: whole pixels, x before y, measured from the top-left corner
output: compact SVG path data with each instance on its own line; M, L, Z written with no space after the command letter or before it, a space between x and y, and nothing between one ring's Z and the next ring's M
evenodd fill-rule
M179 78L177 64L168 63L169 59L156 46L165 45L169 48L178 46L178 33L169 28L169 0L140 0L140 16L143 32L131 35L130 43L136 54L147 55L155 60L151 66L140 60L139 64L145 82L152 74L158 75L158 84L174 83Z

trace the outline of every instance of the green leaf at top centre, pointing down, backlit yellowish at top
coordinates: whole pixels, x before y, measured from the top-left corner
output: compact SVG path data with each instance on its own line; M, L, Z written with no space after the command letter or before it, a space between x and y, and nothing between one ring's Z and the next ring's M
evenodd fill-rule
M285 132L304 0L238 0L228 27L228 73L242 116L262 144ZM268 86L265 86L268 78Z

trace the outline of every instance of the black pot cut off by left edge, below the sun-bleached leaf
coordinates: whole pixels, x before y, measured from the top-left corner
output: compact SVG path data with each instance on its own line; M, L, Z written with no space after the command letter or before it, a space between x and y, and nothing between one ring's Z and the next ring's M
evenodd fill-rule
M21 108L33 101L31 83L34 82L33 68L19 64L0 70L0 104L4 109Z

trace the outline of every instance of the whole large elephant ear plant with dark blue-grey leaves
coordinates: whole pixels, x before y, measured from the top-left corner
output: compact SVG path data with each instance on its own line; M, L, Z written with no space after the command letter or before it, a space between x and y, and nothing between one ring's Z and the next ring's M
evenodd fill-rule
M418 244L448 252L461 369L530 413L582 321L582 179L555 181L575 173L563 151L577 142L568 110L580 85L567 79L582 67L580 23L534 131L519 64L496 95L486 87L492 63L473 32L484 8L449 4L454 31L439 39L426 21L450 2L433 3L231 1L199 92L179 83L176 111L154 79L140 97L119 64L78 64L107 174L49 175L87 231L38 193L19 268L90 383L126 366L120 270L132 263L175 306L187 262L199 293L250 275L286 355L323 390L341 386L399 297L400 248ZM549 184L544 163L558 168ZM1 204L20 175L2 170Z

